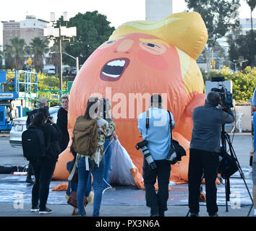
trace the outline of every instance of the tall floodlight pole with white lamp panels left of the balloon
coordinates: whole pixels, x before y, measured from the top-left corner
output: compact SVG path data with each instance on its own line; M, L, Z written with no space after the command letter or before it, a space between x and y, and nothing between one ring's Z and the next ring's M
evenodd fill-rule
M64 12L64 22L69 21L67 17L67 12ZM70 40L77 36L77 27L61 27L61 23L59 23L59 27L57 27L57 22L55 20L55 13L51 12L51 22L52 26L43 29L43 36L46 36L48 39L58 39L59 40L59 88L62 91L62 51L61 51L61 41L62 40Z

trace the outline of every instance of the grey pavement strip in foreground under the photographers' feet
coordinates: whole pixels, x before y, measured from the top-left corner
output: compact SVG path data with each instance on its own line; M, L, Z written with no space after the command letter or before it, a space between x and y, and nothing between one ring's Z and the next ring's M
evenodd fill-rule
M72 217L72 207L62 204L48 205L53 212L44 215L30 212L30 204L24 204L20 208L18 204L0 204L0 207L1 217ZM229 212L226 212L226 206L219 206L218 209L219 217L247 217L250 206L239 209L232 209L229 206ZM92 217L92 204L88 205L86 212L88 217ZM187 212L187 206L168 206L166 217L186 217ZM150 209L146 206L101 206L101 217L149 217L149 215ZM208 217L206 206L200 206L200 217Z

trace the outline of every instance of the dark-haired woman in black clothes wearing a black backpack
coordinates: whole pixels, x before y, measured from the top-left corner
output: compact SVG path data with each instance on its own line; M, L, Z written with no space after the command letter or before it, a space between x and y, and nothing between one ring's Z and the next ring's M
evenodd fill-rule
M28 129L31 127L43 131L45 154L37 160L30 160L35 173L30 212L39 211L39 214L50 214L52 211L46 207L46 203L51 178L60 154L57 141L61 139L62 134L56 123L54 123L54 118L48 117L47 108L38 109L38 113ZM38 200L40 201L39 206Z

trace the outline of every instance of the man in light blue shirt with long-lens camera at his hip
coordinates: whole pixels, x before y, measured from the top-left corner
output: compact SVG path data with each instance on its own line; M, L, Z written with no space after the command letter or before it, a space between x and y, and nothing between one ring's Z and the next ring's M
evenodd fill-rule
M162 108L162 104L160 95L152 95L149 110L140 114L138 118L138 128L143 141L138 143L136 148L141 148L144 155L142 176L146 204L150 207L151 217L164 217L164 212L167 210L168 183L171 172L171 165L166 161L167 154L171 150L170 118L168 112ZM174 128L172 114L171 120L171 127ZM155 192L154 187L156 178L158 178L158 193Z

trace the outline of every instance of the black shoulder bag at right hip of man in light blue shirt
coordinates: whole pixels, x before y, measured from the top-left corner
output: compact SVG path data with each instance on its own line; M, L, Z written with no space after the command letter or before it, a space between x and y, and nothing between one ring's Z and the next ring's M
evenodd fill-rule
M168 111L169 118L170 118L170 129L171 129L171 113ZM181 161L182 157L186 155L185 149L182 147L182 145L179 144L178 141L175 139L172 139L172 129L171 129L171 150L168 152L168 155L166 157L166 160L170 165L175 165L176 162Z

